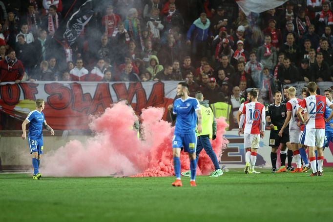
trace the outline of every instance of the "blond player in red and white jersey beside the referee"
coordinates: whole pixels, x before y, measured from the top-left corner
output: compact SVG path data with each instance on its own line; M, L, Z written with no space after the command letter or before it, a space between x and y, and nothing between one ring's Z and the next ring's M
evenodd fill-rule
M302 100L296 98L296 89L295 87L289 87L288 89L289 101L287 102L287 118L285 123L281 127L279 132L279 136L282 137L283 130L289 124L289 138L291 143L291 148L293 152L293 156L296 161L296 169L291 171L291 173L301 173L302 172L302 162L301 155L298 150L298 143L301 137L301 128L297 125L298 118L296 115L297 109L299 107L298 103Z

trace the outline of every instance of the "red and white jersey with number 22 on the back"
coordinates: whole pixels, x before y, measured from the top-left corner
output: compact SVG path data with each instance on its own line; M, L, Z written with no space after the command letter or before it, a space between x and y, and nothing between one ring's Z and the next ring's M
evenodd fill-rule
M299 106L302 109L307 108L309 122L307 123L307 129L325 129L325 108L326 105L330 107L333 103L324 96L312 95L305 98L300 102Z

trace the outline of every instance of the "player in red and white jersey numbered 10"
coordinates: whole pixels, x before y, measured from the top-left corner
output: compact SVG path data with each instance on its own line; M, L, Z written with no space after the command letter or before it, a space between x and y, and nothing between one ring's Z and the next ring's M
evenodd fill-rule
M250 90L251 102L244 104L242 116L239 121L238 135L244 133L245 147L251 147L250 157L250 174L259 173L254 170L255 161L257 160L257 149L260 148L260 137L265 135L265 106L257 101L258 90ZM243 129L243 123L245 127Z

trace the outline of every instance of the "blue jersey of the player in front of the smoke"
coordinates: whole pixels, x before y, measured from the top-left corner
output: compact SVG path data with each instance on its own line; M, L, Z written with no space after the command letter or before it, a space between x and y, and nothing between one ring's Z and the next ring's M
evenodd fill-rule
M197 125L196 110L200 109L197 99L188 97L185 101L181 98L173 103L173 114L177 115L175 134L188 134L195 132Z

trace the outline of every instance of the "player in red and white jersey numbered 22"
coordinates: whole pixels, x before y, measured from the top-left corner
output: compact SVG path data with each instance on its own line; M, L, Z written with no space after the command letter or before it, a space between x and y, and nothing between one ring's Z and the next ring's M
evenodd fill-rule
M302 123L306 124L307 132L304 144L309 146L309 159L312 168L312 174L310 174L310 176L322 176L324 163L322 147L324 145L325 137L325 108L327 105L332 109L333 103L329 101L326 97L316 94L317 84L315 82L309 82L308 89L310 92L310 96L300 102L300 107L297 110L297 116ZM304 120L302 116L302 111L305 108L307 108L308 110L307 120ZM333 112L331 113L327 121L331 120L332 117ZM318 171L314 154L315 147L317 147L318 151Z

